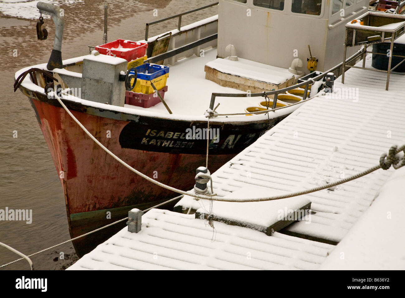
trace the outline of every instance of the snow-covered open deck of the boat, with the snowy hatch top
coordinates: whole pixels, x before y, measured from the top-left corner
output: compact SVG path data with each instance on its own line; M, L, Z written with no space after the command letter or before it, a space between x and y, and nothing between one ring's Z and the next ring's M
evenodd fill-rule
M204 112L209 108L209 103L211 101L211 94L213 92L217 93L246 93L247 90L241 91L233 88L220 86L213 81L205 79L205 64L212 62L214 63L217 55L217 48L212 48L204 51L203 57L191 56L184 58L176 62L174 66L169 65L170 72L167 79L168 91L164 95L164 100L166 101L168 107L173 111L173 114L182 115L203 115ZM226 60L226 59L224 59ZM228 61L228 60L226 60ZM226 64L224 71L230 73L243 73L258 79L261 81L274 81L279 84L280 82L286 81L288 77L292 76L287 69L280 69L278 67L267 66L266 68L259 68L256 64L257 62L245 60L245 63L229 61L231 63ZM246 62L247 61L247 62ZM230 65L236 64L231 68ZM250 65L252 64L252 65ZM240 65L245 66L242 68ZM250 65L250 66L249 66ZM264 64L261 64L264 65ZM255 67L254 67L255 66ZM251 68L251 73L247 69ZM253 72L252 69L256 72ZM261 76L260 76L261 75ZM252 92L253 93L253 92ZM219 97L215 101L215 105L220 103L217 108L217 112L221 114L232 114L232 113L245 113L246 107L258 106L260 101L263 101L263 97ZM145 110L143 107L137 107L134 105L124 105L126 108L132 108L136 110ZM295 109L295 107L292 107ZM147 108L148 111L153 111L159 114L168 114L166 108L162 103ZM288 114L291 112L290 109L281 109L276 111L277 115ZM264 115L250 116L250 118L267 118ZM251 120L251 119L249 119Z

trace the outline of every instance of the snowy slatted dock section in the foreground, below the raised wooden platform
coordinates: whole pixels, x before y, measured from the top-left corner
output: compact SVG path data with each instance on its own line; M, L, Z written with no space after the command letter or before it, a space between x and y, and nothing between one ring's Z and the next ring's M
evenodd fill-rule
M244 227L193 215L152 209L138 233L125 227L68 270L283 270L318 269L330 244L275 232L269 237Z

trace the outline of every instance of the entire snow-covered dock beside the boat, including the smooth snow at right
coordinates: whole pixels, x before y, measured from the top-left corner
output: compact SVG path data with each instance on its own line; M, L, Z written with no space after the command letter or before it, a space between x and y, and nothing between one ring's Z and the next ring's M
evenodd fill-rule
M350 69L345 75L335 93L305 103L213 173L214 192L243 198L262 196L263 189L269 196L310 189L362 172L390 146L404 144L405 76L392 74L385 91L384 73ZM311 202L310 223L297 221L272 236L217 221L214 234L194 214L153 209L139 233L124 228L70 269L351 269L354 259L356 269L379 269L374 258L381 255L385 268L404 269L404 219L397 210L405 205L405 169L393 172L379 169L298 197L298 205ZM254 223L277 212L273 202L262 203L213 202L213 213L229 204ZM209 201L185 196L177 206L203 212Z

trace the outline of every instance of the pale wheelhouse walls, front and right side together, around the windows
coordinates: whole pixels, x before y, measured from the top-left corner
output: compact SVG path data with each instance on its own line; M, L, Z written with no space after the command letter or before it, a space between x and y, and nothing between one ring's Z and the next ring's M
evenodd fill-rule
M344 25L367 10L362 6L368 0L356 1L345 9L342 20L339 14L330 17L333 0L324 0L320 16L292 13L291 0L285 0L283 11L254 6L253 0L246 4L220 0L218 56L226 57L225 47L233 44L237 56L272 66L288 68L293 59L300 58L303 67L299 70L308 73L309 44L312 55L319 59L317 70L325 71L343 60ZM298 57L293 56L294 49ZM348 48L348 56L356 50Z

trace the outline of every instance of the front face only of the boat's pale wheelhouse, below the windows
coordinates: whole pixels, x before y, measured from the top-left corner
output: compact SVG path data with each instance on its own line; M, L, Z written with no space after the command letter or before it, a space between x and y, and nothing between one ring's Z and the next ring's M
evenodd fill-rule
M290 7L291 0L286 0L284 11ZM247 17L247 9L251 9L251 17ZM323 67L328 20L322 18L322 13L319 17L307 17L256 7L252 0L247 0L247 4L220 0L218 19L219 57L226 57L225 47L232 43L241 58L287 69L292 60L300 58L304 62L300 70L307 71L309 44L312 55L319 58L318 68ZM320 33L310 34L313 28L320 27L324 28ZM298 57L293 56L294 49L298 50Z

